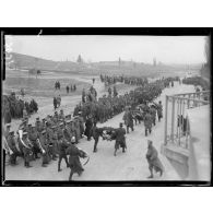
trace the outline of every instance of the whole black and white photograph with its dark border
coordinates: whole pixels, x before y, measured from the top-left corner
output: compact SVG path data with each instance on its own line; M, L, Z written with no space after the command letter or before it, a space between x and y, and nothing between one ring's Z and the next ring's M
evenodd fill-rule
M36 31L1 33L3 185L211 181L209 35Z

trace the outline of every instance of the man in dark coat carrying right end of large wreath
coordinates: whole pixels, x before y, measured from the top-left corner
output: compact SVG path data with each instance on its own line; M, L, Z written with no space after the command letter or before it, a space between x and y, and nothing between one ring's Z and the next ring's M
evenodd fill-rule
M126 130L125 128L122 127L122 122L120 122L120 128L118 128L116 130L116 143L115 143L115 152L114 152L114 155L116 156L116 153L117 153L117 150L121 146L122 147L122 152L126 151L127 149L127 144L126 144L126 138L125 138L125 134L126 134Z

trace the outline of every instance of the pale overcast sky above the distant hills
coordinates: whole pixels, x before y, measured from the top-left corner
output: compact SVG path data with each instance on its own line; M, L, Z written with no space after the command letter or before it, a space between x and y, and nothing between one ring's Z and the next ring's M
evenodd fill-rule
M12 51L50 60L204 62L204 36L7 36Z

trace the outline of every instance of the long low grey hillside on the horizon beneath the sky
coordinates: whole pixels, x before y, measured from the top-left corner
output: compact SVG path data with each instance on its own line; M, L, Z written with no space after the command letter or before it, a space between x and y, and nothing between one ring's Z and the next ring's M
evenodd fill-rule
M199 64L186 66L186 64L164 64L157 66L139 63L133 61L100 61L93 63L76 63L72 61L52 61L42 58L36 58L27 55L12 54L13 62L10 63L10 68L13 69L38 69L46 71L69 71L73 73L86 73L86 74L110 74L110 75L177 75L178 72L187 71L189 69L200 70Z

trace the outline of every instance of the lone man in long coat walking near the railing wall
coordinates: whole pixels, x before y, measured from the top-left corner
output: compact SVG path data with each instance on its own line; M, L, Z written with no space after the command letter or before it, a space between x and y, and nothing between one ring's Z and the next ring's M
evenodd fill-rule
M153 142L151 140L147 140L147 153L146 153L146 159L149 163L149 169L151 175L147 178L153 178L153 169L156 173L159 173L159 176L163 175L164 166L162 162L158 158L158 153L156 149L153 146Z

